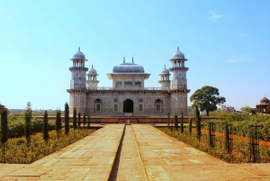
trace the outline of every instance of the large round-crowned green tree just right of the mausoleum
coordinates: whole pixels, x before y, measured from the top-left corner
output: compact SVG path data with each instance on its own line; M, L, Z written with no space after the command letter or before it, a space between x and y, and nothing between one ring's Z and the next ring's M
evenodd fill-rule
M225 97L219 96L219 89L213 86L202 86L196 90L190 97L190 101L194 105L198 105L201 111L206 111L207 116L209 112L218 109L217 104L226 102Z

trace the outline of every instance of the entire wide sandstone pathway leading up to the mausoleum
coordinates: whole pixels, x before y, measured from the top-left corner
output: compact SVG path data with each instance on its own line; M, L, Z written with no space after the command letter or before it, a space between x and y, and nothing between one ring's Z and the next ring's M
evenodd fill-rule
M0 164L0 180L270 180L269 170L228 164L150 125L108 124L30 165Z

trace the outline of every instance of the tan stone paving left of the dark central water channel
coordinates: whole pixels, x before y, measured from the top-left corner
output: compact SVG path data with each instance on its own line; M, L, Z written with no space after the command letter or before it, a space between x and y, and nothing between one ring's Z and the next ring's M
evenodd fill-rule
M0 180L108 180L124 125L110 124L29 164L1 164Z

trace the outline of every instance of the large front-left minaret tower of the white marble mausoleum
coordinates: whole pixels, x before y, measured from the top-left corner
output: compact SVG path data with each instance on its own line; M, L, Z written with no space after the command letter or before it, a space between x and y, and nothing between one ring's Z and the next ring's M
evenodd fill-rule
M76 107L76 113L85 113L85 99L86 99L86 82L85 73L88 68L85 68L85 55L78 51L70 59L73 63L73 67L69 68L71 71L70 89L67 89L69 93L69 113L73 113L73 108Z

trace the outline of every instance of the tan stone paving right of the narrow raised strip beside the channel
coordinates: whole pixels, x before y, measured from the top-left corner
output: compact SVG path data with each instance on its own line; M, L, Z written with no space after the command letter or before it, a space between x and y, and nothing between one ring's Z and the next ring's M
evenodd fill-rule
M150 125L132 127L149 180L270 180L270 164L229 164Z

